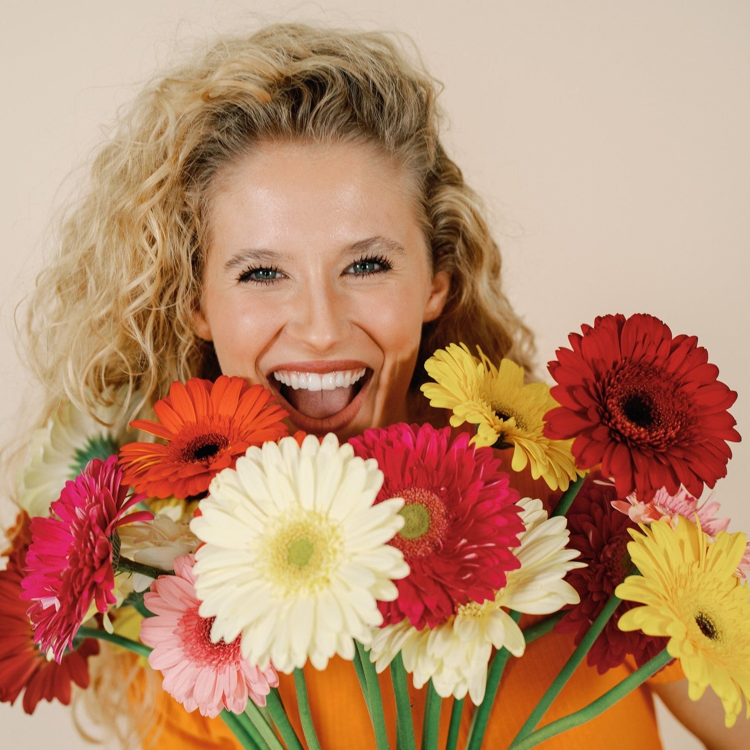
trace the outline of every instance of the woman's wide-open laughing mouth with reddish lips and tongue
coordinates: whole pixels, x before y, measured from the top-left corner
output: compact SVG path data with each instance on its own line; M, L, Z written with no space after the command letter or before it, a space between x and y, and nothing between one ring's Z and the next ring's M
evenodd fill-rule
M315 373L324 376L337 371L361 371L362 369L365 370L365 375L359 378L355 384L337 387L335 391L332 391L332 389L309 391L302 388L293 390L289 386L279 383L278 378L274 375L275 373L282 374L282 379L289 381L290 373ZM320 436L329 432L341 431L353 421L365 402L372 375L373 371L368 365L354 360L290 362L275 367L269 372L266 380L268 380L272 391L278 394L278 401L281 406L290 413L290 419L294 425L305 432ZM299 380L304 382L304 378ZM297 378L295 378L296 382L298 382ZM291 395L292 393L294 398ZM294 404L291 403L292 400L295 401ZM343 407L337 409L336 407L340 404ZM335 413L330 412L331 408L336 409Z

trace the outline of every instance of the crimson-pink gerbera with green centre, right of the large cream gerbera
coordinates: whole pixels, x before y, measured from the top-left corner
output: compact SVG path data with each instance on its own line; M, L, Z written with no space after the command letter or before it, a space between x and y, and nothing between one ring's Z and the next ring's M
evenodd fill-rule
M385 475L375 502L406 501L406 523L390 544L411 571L395 581L398 598L380 602L384 625L408 618L418 629L434 627L460 604L494 598L506 571L520 567L511 552L523 532L518 493L492 449L475 450L469 434L451 440L450 433L401 424L349 441Z

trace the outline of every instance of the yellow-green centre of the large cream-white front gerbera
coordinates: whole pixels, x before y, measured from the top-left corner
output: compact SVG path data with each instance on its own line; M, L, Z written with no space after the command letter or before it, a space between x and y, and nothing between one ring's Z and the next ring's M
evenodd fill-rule
M318 593L331 585L343 549L338 524L320 513L281 519L263 556L266 575L283 595Z

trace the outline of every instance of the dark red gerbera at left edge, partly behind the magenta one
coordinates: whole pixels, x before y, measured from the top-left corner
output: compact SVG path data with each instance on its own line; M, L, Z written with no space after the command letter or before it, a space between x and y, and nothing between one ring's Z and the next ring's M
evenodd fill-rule
M0 703L15 703L23 693L23 710L33 713L40 700L71 702L71 682L89 686L89 656L99 652L96 640L88 638L60 664L47 661L34 645L34 628L20 598L23 565L28 550L28 516L10 553L7 568L0 571Z

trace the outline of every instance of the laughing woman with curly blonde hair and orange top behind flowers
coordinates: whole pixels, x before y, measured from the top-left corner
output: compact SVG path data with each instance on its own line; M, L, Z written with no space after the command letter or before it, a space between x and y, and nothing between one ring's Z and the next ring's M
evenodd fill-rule
M431 77L383 35L293 25L222 40L145 89L98 154L30 307L44 416L61 398L148 412L173 380L224 373L277 392L293 428L346 440L439 421L419 394L422 365L453 341L529 371L532 337L502 294L478 200L440 145L435 99ZM487 747L508 745L570 651L550 635L512 664ZM626 672L581 667L550 716ZM370 746L351 665L306 673L323 747ZM142 679L130 681L133 715ZM114 706L106 682L100 670L88 697ZM678 685L661 688L665 700L704 741L719 736L721 712L697 718L704 703ZM288 680L281 691L292 705ZM166 698L159 712L148 742L160 748L233 746L220 723ZM660 746L646 688L547 745L604 742Z

